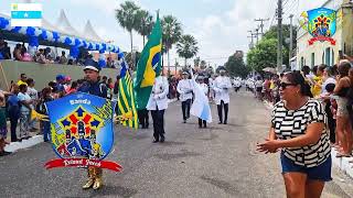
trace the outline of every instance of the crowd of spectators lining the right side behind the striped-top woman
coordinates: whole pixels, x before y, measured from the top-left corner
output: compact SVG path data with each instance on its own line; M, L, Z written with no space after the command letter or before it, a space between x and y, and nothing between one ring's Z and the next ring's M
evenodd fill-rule
M344 56L335 65L303 66L300 73L310 86L311 98L324 105L330 141L338 150L336 157L350 157L353 150L353 58ZM296 72L291 72L296 73ZM257 76L246 80L248 90L259 100L272 105L280 101L281 75Z

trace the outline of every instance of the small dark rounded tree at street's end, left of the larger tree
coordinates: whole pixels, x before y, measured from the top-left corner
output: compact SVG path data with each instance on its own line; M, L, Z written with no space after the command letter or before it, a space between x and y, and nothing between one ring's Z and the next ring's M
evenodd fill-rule
M236 56L235 54L228 57L225 67L231 76L240 76L243 78L250 72L250 68L245 65L243 57Z

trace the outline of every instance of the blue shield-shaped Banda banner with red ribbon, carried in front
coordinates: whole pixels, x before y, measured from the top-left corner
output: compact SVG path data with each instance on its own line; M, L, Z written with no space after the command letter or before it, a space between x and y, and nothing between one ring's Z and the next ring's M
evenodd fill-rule
M76 92L45 103L51 141L60 157L45 164L54 167L100 167L120 172L115 162L103 161L114 143L114 103L105 98Z

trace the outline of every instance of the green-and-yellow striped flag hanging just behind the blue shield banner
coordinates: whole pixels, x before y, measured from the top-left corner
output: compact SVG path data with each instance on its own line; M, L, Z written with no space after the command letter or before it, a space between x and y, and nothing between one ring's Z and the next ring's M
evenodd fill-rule
M120 70L118 108L118 119L121 124L138 129L139 122L135 102L133 82L125 61L121 63Z

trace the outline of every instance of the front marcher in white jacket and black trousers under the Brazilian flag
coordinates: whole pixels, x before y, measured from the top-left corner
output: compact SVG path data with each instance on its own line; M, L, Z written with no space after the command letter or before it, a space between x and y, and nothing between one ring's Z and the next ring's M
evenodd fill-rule
M147 103L147 110L151 111L153 120L153 143L163 143L164 138L164 111L168 108L169 84L164 76L158 76L151 91L150 99Z

